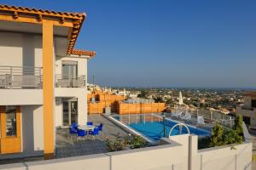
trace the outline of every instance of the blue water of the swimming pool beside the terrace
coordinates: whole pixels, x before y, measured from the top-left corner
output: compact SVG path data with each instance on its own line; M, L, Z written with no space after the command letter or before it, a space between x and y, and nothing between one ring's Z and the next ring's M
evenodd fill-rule
M113 116L114 119L119 121L119 116ZM171 119L166 119L166 136L169 135L171 128L174 127L178 122L172 121ZM126 124L126 126L131 127L131 129L137 131L138 133L143 134L149 139L159 140L164 137L164 122L132 122L131 124ZM210 136L211 132L198 128L189 126L189 132L198 136ZM188 133L186 127L182 127L181 134ZM171 135L180 134L179 127L174 127Z

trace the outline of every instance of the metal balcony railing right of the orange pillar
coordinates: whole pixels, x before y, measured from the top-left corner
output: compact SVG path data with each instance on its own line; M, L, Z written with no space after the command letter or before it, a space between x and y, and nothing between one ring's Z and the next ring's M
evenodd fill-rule
M55 88L85 88L84 75L55 75Z

